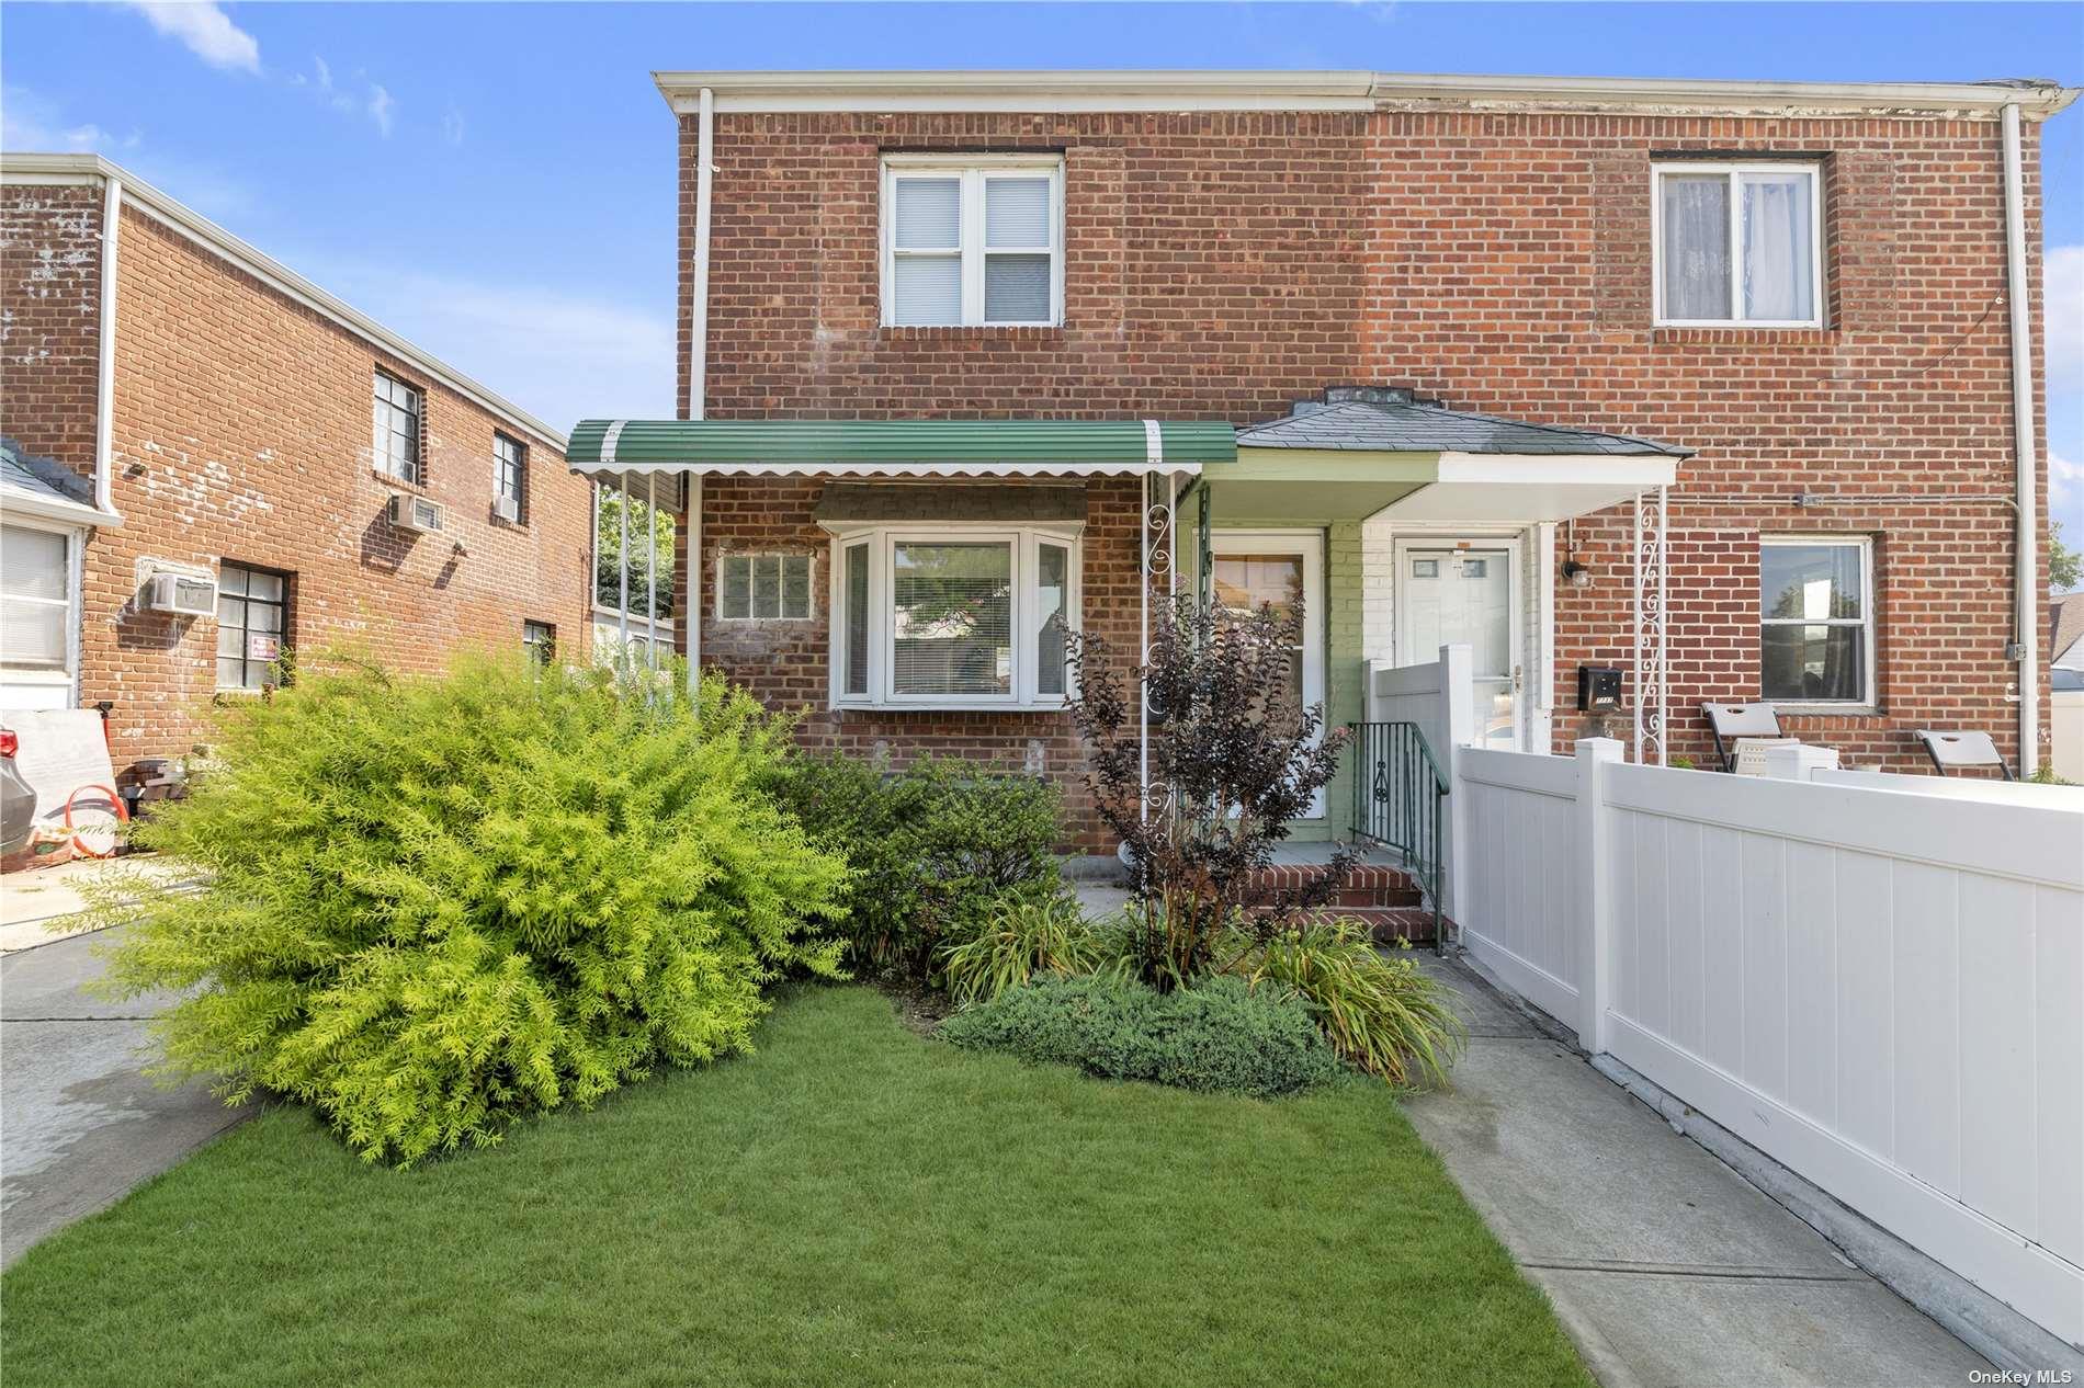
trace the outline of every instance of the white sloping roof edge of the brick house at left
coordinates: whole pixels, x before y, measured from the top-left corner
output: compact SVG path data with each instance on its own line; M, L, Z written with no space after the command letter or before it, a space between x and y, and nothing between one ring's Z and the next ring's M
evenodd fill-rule
M175 231L188 236L192 242L206 246L231 265L254 275L269 288L288 294L292 300L304 304L306 308L331 319L336 325L348 329L356 338L363 338L371 346L377 346L400 361L408 361L421 367L427 375L442 381L458 396L471 400L479 408L498 415L513 427L534 433L538 440L550 444L559 452L565 452L567 438L561 429L552 429L544 421L536 419L523 411L513 400L506 400L498 392L479 383L477 379L456 371L440 356L433 356L425 348L413 346L392 329L383 327L371 319L361 308L354 308L346 300L321 290L317 283L298 275L294 269L281 261L269 256L256 246L240 240L225 227L217 225L196 208L185 202L160 192L152 183L146 183L135 173L117 165L100 154L35 154L35 152L4 152L0 154L0 183L65 183L65 181L92 181L92 179L117 179L123 183L125 202L135 202L138 208L154 217L156 221L173 227Z

